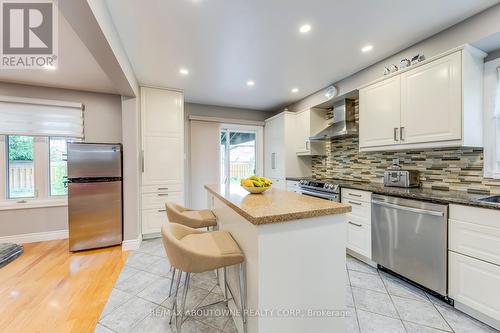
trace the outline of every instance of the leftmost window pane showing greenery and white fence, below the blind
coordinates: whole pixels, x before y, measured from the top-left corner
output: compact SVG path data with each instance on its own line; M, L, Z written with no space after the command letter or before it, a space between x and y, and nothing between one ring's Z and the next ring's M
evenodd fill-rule
M11 135L7 142L8 197L32 198L35 196L33 137Z

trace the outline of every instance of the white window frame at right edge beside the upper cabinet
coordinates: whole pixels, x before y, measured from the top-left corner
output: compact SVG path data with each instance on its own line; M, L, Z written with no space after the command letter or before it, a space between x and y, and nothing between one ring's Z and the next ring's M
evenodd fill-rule
M497 131L495 118L495 99L500 84L497 68L500 58L484 64L484 177L500 179L500 156L497 156L496 144L500 131Z

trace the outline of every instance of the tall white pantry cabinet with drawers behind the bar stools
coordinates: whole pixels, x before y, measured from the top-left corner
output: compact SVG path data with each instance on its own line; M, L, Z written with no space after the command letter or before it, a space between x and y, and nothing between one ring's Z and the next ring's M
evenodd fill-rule
M160 232L165 202L184 205L184 96L141 87L142 234Z

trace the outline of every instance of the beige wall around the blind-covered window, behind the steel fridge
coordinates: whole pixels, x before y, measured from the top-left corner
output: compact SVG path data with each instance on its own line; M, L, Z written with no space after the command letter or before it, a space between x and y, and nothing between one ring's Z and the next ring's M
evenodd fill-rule
M85 105L85 141L122 142L120 96L5 82L0 82L0 95L82 103ZM67 228L67 207L0 211L0 237Z

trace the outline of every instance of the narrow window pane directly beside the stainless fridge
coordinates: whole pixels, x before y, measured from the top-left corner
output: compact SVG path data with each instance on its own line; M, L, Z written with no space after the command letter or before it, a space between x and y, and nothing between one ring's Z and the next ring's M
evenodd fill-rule
M50 155L50 195L67 195L66 178L68 176L67 142L66 138L49 138Z

